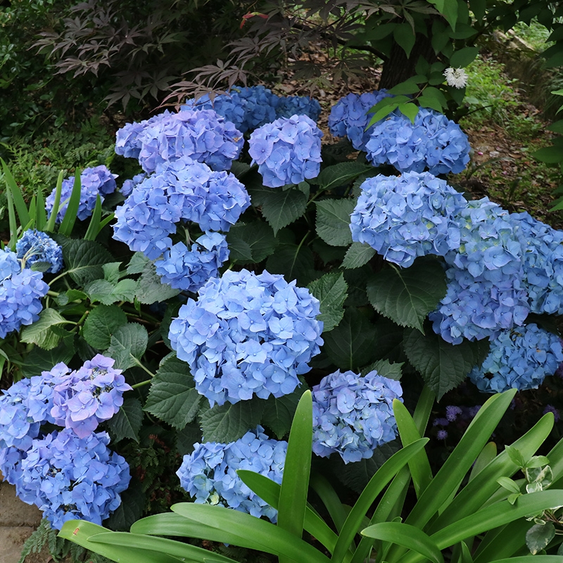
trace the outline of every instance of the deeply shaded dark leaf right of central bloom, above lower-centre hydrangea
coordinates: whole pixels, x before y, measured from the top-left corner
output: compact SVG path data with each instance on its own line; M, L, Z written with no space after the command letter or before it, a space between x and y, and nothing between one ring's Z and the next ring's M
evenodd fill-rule
M339 326L323 335L323 350L340 369L359 369L374 360L377 330L357 309L347 309Z

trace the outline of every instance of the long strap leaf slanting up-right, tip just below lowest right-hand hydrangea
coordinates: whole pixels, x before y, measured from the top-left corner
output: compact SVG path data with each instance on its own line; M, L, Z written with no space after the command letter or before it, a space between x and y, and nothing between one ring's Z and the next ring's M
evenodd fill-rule
M510 406L514 393L516 389L494 395L481 407L456 448L405 519L406 524L424 529L434 514L457 490L465 474L469 472L484 445L491 438L502 415Z

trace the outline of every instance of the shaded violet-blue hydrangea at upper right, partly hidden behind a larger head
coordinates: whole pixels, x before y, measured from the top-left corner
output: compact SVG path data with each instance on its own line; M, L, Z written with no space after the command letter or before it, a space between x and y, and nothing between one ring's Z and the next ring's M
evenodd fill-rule
M329 115L329 131L334 137L348 137L356 151L365 151L372 127L366 130L372 115L367 112L384 98L391 97L385 89L347 94L332 106Z

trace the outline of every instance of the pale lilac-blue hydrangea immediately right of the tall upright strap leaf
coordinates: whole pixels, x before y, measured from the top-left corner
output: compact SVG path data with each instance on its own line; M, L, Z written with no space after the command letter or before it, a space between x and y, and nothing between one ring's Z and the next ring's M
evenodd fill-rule
M313 452L337 452L345 463L372 457L397 436L393 399L402 396L398 381L376 371L362 377L339 370L324 377L312 388Z

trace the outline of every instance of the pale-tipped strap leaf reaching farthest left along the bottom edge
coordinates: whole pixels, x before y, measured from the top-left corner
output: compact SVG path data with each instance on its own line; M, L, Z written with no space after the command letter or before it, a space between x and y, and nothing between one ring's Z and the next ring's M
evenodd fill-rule
M70 520L65 522L58 536L70 540L83 548L94 553L103 555L115 562L120 563L178 563L181 559L166 555L161 552L153 552L134 547L123 547L122 545L104 545L94 543L91 537L99 533L106 533L108 529L92 524L85 520ZM104 534L105 535L105 534Z

